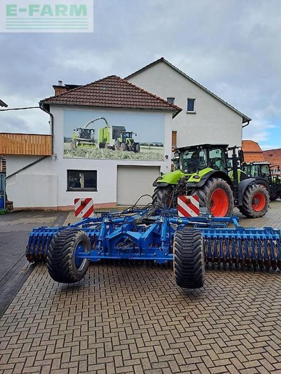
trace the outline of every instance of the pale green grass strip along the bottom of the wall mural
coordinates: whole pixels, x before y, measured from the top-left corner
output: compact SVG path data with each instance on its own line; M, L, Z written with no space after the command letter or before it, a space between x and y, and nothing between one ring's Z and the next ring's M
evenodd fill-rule
M128 152L100 148L75 148L70 143L64 143L64 157L87 159L117 159L117 160L163 160L163 147L141 146L140 152Z

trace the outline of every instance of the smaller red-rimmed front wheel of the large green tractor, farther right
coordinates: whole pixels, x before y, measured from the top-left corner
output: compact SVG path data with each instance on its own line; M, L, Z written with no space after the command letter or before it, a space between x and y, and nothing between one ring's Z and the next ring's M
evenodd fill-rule
M259 184L252 184L244 191L242 206L239 206L239 211L246 217L259 218L266 214L268 207L268 190Z

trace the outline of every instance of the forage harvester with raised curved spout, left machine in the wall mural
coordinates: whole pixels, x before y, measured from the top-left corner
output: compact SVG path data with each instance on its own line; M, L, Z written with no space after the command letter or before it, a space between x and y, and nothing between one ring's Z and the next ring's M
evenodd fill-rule
M84 127L78 127L75 130L73 130L72 134L72 141L70 143L70 146L72 149L75 148L96 148L96 142L95 142L95 130L90 129L88 126L91 125L91 123L96 122L97 120L104 120L106 125L108 126L108 122L105 117L99 117L95 118L92 121L88 122L87 125Z

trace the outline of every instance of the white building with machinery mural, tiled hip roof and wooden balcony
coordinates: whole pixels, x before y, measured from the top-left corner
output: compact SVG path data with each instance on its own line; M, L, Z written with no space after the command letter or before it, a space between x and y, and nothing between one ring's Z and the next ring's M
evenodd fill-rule
M114 207L152 194L160 171L170 171L181 108L117 76L61 91L40 102L51 114L51 135L0 134L14 207L73 209L76 197Z

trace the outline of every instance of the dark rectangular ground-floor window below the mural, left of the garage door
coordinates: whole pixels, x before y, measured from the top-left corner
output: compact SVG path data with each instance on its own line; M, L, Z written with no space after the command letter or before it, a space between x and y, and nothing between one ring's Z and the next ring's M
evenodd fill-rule
M97 191L96 170L67 170L67 191Z

